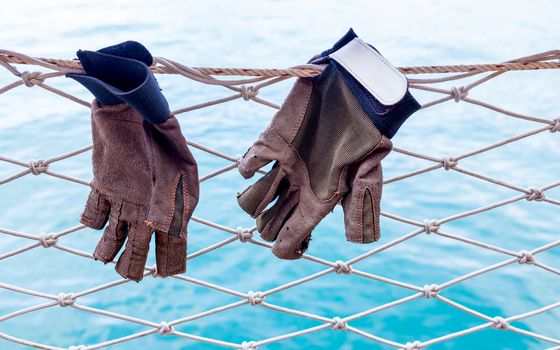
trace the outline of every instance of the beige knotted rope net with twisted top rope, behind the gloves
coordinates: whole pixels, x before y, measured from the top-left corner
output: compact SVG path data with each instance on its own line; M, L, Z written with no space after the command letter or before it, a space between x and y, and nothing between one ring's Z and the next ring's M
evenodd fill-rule
M552 274L556 278L556 281L560 282L559 267L550 266L544 262L539 261L539 254L545 251L550 251L558 247L560 245L560 240L552 241L538 247L527 247L526 249L521 251L512 251L510 249L506 249L490 243L485 243L483 241L458 235L456 233L450 232L445 227L447 223L450 223L452 221L459 220L465 217L472 217L483 212L492 211L496 208L512 205L513 203L519 201L546 202L549 203L550 205L560 206L560 200L556 198L552 198L549 195L549 193L547 193L551 189L560 188L560 181L543 184L540 187L524 188L516 184L506 182L501 179L493 178L487 175L480 174L478 172L474 172L472 170L469 170L461 166L461 162L466 158L474 157L476 155L480 155L482 153L509 145L514 142L518 142L530 137L534 137L542 133L550 132L550 133L560 134L559 133L560 119L553 119L553 118L547 119L542 117L516 113L469 96L469 93L471 92L472 89L477 88L480 85L488 82L489 80L494 79L499 75L504 74L508 71L560 68L560 63L555 61L558 60L559 58L560 58L560 51L549 51L549 52L523 57L520 59L516 59L500 64L401 68L401 71L407 74L438 73L435 77L430 76L429 78L422 78L422 79L412 78L409 76L410 87L412 89L423 90L437 96L437 98L435 98L434 100L431 100L430 102L423 104L422 108L424 109L448 101L468 103L468 104L479 106L480 108L492 110L496 113L503 114L510 118L515 118L521 121L525 121L527 122L527 124L530 124L532 126L532 129L528 132L507 139L503 139L499 142L489 144L484 147L474 149L467 153L456 155L453 157L445 157L445 158L434 157L427 154L422 154L416 151L412 151L409 149L395 147L394 151L400 153L403 156L409 157L410 159L412 158L421 159L424 161L431 162L433 164L431 164L428 167L424 167L415 171L411 171L391 178L387 178L385 179L384 183L388 184L392 182L398 182L407 178L418 176L420 174L437 171L437 170L444 170L444 171L448 171L449 173L451 172L460 173L464 176L475 178L477 180L486 182L493 186L507 188L509 190L514 191L516 193L515 196L512 196L505 200L491 203L483 207L456 213L451 216L443 217L437 220L425 220L423 222L412 220L409 218L404 218L388 212L383 212L382 215L386 219L394 220L406 224L412 227L412 229L409 232L405 233L404 235L396 239L393 239L385 244L369 245L368 249L370 250L345 261L342 260L329 261L323 258L319 258L317 256L305 254L303 257L304 259L321 267L321 270L319 272L309 274L303 278L299 278L290 281L289 283L278 285L268 290L262 290L262 291L233 290L231 288L227 288L209 281L190 277L188 272L187 274L184 275L173 276L171 278L181 281L182 283L202 286L208 289L212 289L219 293L224 293L233 296L235 298L238 298L239 300L200 313L185 315L184 317L181 318L166 320L166 321L153 321L153 320L141 319L124 313L117 313L113 311L104 310L101 308L90 307L81 303L82 298L85 296L90 296L92 294L99 293L103 290L107 290L126 283L130 283L130 281L121 278L118 278L111 282L94 286L86 290L74 291L71 293L68 291L60 291L60 293L58 294L45 293L39 290L28 289L17 285L3 283L2 281L0 281L0 289L9 290L11 292L19 293L30 297L38 297L44 300L43 303L37 304L35 306L20 309L5 315L0 315L0 324L9 319L38 312L39 310L43 310L47 308L66 307L66 308L78 309L83 312L103 315L111 319L115 319L115 321L118 322L135 323L144 326L146 328L146 330L144 331L131 333L124 337L111 339L108 341L104 341L102 343L88 344L88 345L76 344L70 347L70 349L74 349L74 350L104 348L110 345L125 343L133 339L146 337L151 334L156 334L161 336L180 337L180 338L190 339L191 341L195 341L195 342L213 344L213 345L229 347L229 348L256 349L258 347L265 346L267 344L300 337L306 334L319 332L329 328L334 331L352 332L371 342L377 342L380 344L387 345L388 347L407 349L407 350L425 348L430 345L444 342L446 340L465 336L475 332L481 332L485 329L494 328L504 332L514 332L527 337L532 337L540 341L549 343L550 346L552 346L552 348L554 349L560 349L560 338L558 337L558 333L539 334L530 330L520 328L516 325L516 321L532 318L535 317L536 315L551 311L553 309L560 308L560 301L556 303L544 305L538 309L534 309L522 314L496 316L496 315L484 314L480 311L474 310L473 308L467 307L445 296L446 289L451 286L458 285L469 279L481 276L483 274L487 274L491 271L503 269L507 266L514 265L514 264L532 265L532 267L535 269L540 269L542 271L545 271L547 274ZM16 52L0 50L0 65L2 65L11 74L17 77L17 79L12 83L1 87L0 94L5 94L6 92L21 86L36 87L57 94L68 101L78 103L88 108L90 107L89 102L84 101L67 92L64 92L63 90L47 83L47 81L51 79L60 79L60 77L63 77L64 74L67 72L81 71L79 62L68 61L68 60L57 60L57 59L37 59ZM34 67L41 66L47 68L48 71L47 72L20 71L18 69L19 66L16 65L30 65ZM259 97L259 92L261 91L261 89L264 89L280 81L286 80L290 77L313 76L317 74L317 70L314 69L313 66L298 66L290 69L269 69L269 70L233 69L233 68L192 68L164 58L157 58L155 60L154 65L151 68L155 73L178 74L184 76L187 79L192 79L200 83L223 86L224 88L232 92L226 97L214 99L201 104L179 108L173 112L176 115L181 115L189 111L197 110L200 108L204 108L216 104L226 103L228 101L233 101L237 99L252 101L255 103L265 105L272 109L278 109L279 106L277 104ZM454 74L442 75L441 73L454 73ZM232 79L230 77L228 79L219 79L217 78L218 75L232 75L232 76L237 76L237 78ZM241 76L251 76L251 77L242 78ZM450 81L463 81L465 78L470 78L470 77L474 77L475 79L464 86L457 86L449 89L434 86L434 84L438 84L438 83L445 83ZM217 169L206 175L201 176L200 177L201 182L205 182L209 179L215 178L227 172L236 170L237 167L236 161L238 159L237 157L224 154L218 150L213 149L208 145L202 145L197 142L194 142L193 140L187 140L187 141L191 147L194 147L201 152L206 152L207 154L213 157L222 158L223 160L231 163L226 167ZM67 181L69 185L75 184L81 186L89 186L88 180L51 170L50 166L56 162L60 162L70 157L76 157L80 154L89 152L91 149L92 149L91 145L86 145L79 149L71 150L64 154L60 154L58 156L49 159L41 159L41 160L34 160L34 161L12 159L10 157L0 154L0 163L2 162L11 163L13 165L22 168L20 171L17 171L5 178L0 178L0 185L6 185L12 181L16 181L17 179L28 175L34 175L34 176L42 175L42 176L52 176L58 179L62 179L64 181ZM226 227L210 219L202 218L198 216L194 216L192 220L198 222L199 224L207 225L213 230L222 232L226 238L218 243L212 244L210 246L207 246L206 248L190 253L187 257L187 260L194 259L201 255L220 249L224 246L236 245L240 243L256 245L262 249L271 248L270 244L263 242L256 237L255 235L256 227L237 227L237 228ZM69 227L59 232L36 234L30 232L19 232L11 228L0 227L0 236L8 235L21 239L21 246L19 248L10 251L0 251L0 264L3 261L7 261L7 259L10 259L16 255L34 249L56 250L61 254L70 254L70 255L77 256L81 259L93 259L90 252L82 251L65 244L65 239L67 239L70 235L73 235L76 232L83 230L84 228L86 227L83 225L77 225L77 226ZM409 241L409 240L414 241L415 237L418 237L420 235L432 235L438 237L438 239L441 240L452 240L461 245L465 245L465 246L468 245L476 249L485 250L487 252L491 252L492 254L498 254L499 256L501 256L502 260L498 263L471 271L465 275L458 276L445 283L428 284L424 286L413 285L410 283L383 277L381 275L376 275L368 271L362 271L354 266L356 263L360 261L364 261L365 259L371 259L376 254L381 253L396 245L399 245L402 242ZM95 238L97 238L97 236L95 236ZM242 250L244 247L242 244L237 246L236 249ZM272 254L271 254L271 258L273 258ZM352 274L362 279L371 280L372 282L378 281L381 283L391 284L393 286L408 291L409 294L406 297L392 300L389 303L379 305L374 308L366 309L359 313L355 313L351 315L340 315L336 317L325 317L323 315L304 312L294 308L287 308L284 306L270 303L266 300L267 297L270 295L282 293L283 291L286 291L290 288L303 285L312 280L321 279L329 274L340 274L340 275ZM150 276L150 275L154 277L157 276L157 271L155 269L155 266L145 267L145 276ZM480 322L478 325L474 327L448 333L444 336L439 336L424 341L411 339L411 341L406 343L400 343L391 339L386 339L380 337L379 335L366 332L352 325L353 321L363 318L365 316L372 315L390 308L395 308L398 307L399 305L410 303L413 300L422 299L422 298L436 299L437 301L441 303L445 303L450 307L459 310L460 312L467 313L476 317L478 320L480 320ZM213 314L222 313L227 310L239 308L244 305L251 305L253 307L258 307L258 308L266 308L273 312L286 313L286 314L294 315L296 317L305 317L317 321L319 325L306 329L300 329L295 332L282 334L267 339L247 339L242 343L233 343L223 339L209 338L209 337L204 337L204 336L177 330L177 326L179 325L186 324L193 320L209 317ZM25 346L32 346L40 349L62 349L60 346L57 346L57 344L37 343L31 340L18 338L3 332L0 332L0 337L9 342L22 344Z

